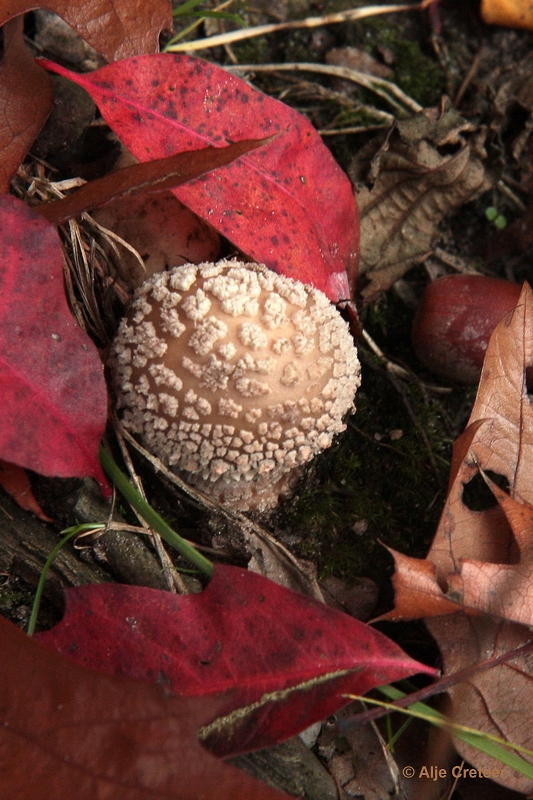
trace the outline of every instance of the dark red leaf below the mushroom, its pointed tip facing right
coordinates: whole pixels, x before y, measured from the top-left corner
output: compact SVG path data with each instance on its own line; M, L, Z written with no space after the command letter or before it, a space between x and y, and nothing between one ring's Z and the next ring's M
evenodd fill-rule
M65 617L40 638L85 666L185 696L232 690L224 714L256 704L239 714L239 727L217 725L208 738L224 756L293 736L346 705L347 693L435 674L353 617L238 567L217 566L197 595L68 589Z

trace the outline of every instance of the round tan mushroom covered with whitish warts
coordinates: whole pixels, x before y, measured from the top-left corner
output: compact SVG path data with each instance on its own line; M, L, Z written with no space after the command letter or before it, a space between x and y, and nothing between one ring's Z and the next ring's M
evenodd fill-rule
M356 349L327 297L258 264L186 264L136 292L113 345L122 421L234 508L265 510L344 430Z

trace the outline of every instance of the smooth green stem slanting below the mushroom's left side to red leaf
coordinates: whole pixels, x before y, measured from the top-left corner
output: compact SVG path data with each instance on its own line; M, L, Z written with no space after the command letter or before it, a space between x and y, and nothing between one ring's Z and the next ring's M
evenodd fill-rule
M176 531L172 530L170 525L159 516L157 511L141 497L137 489L132 486L124 473L119 469L110 453L102 446L100 447L100 462L108 478L111 479L122 496L128 501L132 508L141 515L148 525L157 531L161 538L177 550L183 558L186 558L187 561L199 569L200 572L203 572L204 575L210 578L214 570L212 562L199 553L189 542L182 539Z

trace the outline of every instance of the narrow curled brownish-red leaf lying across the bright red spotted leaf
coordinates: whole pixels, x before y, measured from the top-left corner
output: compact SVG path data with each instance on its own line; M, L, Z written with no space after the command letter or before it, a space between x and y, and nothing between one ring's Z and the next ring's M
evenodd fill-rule
M90 181L62 200L53 200L39 206L39 212L48 222L61 222L80 215L90 208L102 206L120 197L140 192L161 192L180 186L208 170L228 164L243 153L262 144L262 140L241 141L228 147L204 147L192 153L132 164Z

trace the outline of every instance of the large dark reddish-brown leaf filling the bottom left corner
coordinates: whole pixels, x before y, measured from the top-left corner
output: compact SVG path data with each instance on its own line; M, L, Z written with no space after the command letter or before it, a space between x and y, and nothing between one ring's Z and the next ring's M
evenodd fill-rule
M198 742L216 698L80 667L0 617L3 800L289 800Z

